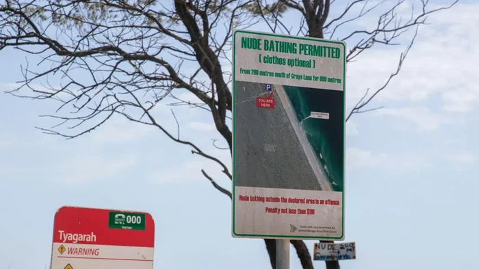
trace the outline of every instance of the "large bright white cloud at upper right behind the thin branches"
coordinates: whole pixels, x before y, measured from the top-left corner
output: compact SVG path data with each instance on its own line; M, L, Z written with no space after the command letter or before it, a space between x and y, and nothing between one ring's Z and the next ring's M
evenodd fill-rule
M479 3L458 3L428 18L399 74L377 100L424 102L441 96L443 109L467 112L479 104L479 36L471 25L479 25ZM352 44L350 44L351 46ZM396 69L404 47L365 51L348 66L348 98L358 100L365 89L377 89Z

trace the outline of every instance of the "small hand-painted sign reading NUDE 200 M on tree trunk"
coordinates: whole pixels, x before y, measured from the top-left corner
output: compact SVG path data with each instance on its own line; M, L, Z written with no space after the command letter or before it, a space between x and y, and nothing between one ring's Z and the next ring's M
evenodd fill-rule
M356 244L354 242L314 244L315 261L339 261L341 259L356 259Z

